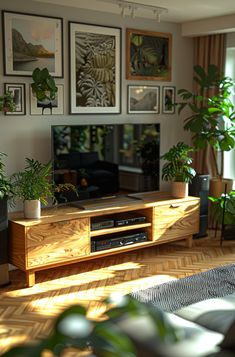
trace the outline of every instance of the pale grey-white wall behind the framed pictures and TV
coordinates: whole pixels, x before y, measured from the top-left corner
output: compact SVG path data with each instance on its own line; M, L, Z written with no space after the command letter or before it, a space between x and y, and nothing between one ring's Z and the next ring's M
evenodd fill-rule
M66 3L66 0L65 0ZM161 124L161 154L166 152L179 140L190 142L189 134L183 130L183 120L175 115L162 114L127 114L127 85L175 85L177 88L191 89L193 42L190 38L181 36L181 26L172 23L158 23L143 18L122 18L115 14L105 14L66 6L32 2L30 0L1 0L1 10L25 12L46 16L62 17L64 19L64 78L56 79L57 84L64 84L64 115L30 115L29 84L30 77L3 76L3 55L0 56L0 94L3 83L26 83L26 115L13 116L0 113L0 151L8 155L6 161L7 173L11 174L24 167L25 157L35 158L43 162L50 159L50 127L52 124L102 124L102 123L143 123L159 122ZM122 79L121 79L121 114L115 115L69 115L69 69L68 69L68 21L83 22L97 25L122 28ZM1 24L2 26L2 24ZM149 31L170 32L173 35L172 51L172 81L127 81L125 79L125 29L135 28ZM0 53L3 53L0 39ZM161 182L161 189L168 184Z

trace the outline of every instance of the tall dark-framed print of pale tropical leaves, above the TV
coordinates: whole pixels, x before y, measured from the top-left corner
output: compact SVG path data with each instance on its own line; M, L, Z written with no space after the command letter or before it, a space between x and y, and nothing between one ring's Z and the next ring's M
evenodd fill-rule
M121 29L69 22L70 114L120 113Z

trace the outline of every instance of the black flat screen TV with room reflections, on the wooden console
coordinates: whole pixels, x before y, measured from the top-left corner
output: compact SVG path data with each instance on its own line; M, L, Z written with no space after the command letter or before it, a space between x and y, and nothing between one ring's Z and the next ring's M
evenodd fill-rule
M53 125L54 180L72 183L59 202L159 190L160 124Z

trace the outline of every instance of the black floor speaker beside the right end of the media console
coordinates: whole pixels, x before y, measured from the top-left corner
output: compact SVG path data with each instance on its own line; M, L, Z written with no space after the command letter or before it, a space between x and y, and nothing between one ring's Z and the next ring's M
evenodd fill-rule
M189 184L190 196L200 197L199 233L194 238L207 236L208 225L208 195L210 188L210 175L196 175Z

